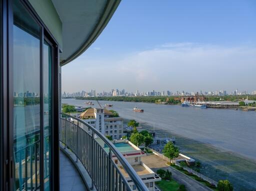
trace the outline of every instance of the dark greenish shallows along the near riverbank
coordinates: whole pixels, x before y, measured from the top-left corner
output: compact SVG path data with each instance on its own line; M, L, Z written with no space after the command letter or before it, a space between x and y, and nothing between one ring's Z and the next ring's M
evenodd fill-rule
M227 179L237 191L256 189L256 160L152 127L146 123L140 123L140 125L144 130L155 132L158 138L175 136L180 153L200 161L200 173L210 179L215 181Z

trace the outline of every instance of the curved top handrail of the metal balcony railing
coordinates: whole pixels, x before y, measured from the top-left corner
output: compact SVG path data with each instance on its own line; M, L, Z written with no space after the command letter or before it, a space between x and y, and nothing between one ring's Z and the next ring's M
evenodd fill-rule
M136 174L135 170L131 167L131 165L126 161L126 159L122 156L122 154L116 149L116 147L104 136L102 135L98 130L96 130L94 127L89 125L88 123L80 120L77 117L60 113L61 115L70 117L72 119L75 119L76 121L82 123L83 125L87 126L91 131L95 133L100 139L104 141L104 143L111 149L111 152L115 155L115 157L118 159L118 161L121 163L122 167L126 171L126 173L129 175L130 179L133 181L133 183L136 185L137 189L139 191L148 191L145 184L142 182L142 180L139 178L139 176ZM79 126L78 126L79 127ZM79 127L81 128L81 127ZM81 128L82 129L82 128Z

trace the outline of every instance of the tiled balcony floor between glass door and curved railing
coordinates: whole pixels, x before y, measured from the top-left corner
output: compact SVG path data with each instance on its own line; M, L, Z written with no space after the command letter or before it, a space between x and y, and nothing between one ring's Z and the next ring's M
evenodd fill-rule
M72 162L60 151L60 191L87 191Z

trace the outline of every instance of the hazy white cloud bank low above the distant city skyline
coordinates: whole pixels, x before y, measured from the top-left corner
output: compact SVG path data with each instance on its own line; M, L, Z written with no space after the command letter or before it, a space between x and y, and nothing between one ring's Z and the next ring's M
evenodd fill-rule
M82 62L84 69L81 78L86 76L93 80L77 90L93 87L98 90L126 88L129 91L147 91L152 88L159 91L256 89L253 83L256 71L255 47L166 43L132 53L120 60L115 60L113 55L111 60L83 58Z

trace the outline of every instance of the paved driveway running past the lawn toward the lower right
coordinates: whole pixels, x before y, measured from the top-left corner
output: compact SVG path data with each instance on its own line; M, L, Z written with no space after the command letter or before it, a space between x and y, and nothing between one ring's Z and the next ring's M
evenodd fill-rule
M141 157L142 162L156 172L158 169L169 170L172 174L172 179L178 182L179 184L185 185L186 191L212 191L208 187L201 185L195 180L187 177L186 175L180 173L176 169L166 165L166 161L161 159L156 155L149 155L146 157Z

